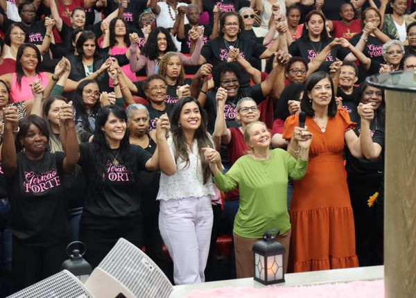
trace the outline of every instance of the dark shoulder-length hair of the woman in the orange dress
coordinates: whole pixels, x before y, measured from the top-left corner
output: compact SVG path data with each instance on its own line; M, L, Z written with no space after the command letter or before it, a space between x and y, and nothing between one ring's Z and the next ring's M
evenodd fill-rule
M335 101L335 92L333 91L333 82L331 76L329 76L328 73L324 71L317 71L315 73L312 73L309 78L306 79L306 90L304 91L304 96L302 97L302 100L300 102L300 109L306 113L306 115L313 117L315 116L315 111L313 110L311 99L308 96L308 92L312 91L313 87L315 87L316 84L320 80L323 80L324 78L327 78L329 82L331 82L331 90L332 90L332 96L331 101L328 105L328 116L333 117L336 115L338 108L336 107L336 101Z

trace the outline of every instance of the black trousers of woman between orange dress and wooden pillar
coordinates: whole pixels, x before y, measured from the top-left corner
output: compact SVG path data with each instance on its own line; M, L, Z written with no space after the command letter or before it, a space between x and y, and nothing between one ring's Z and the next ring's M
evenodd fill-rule
M356 234L356 254L360 266L383 264L383 174L351 175L347 178ZM372 207L367 200L379 192Z

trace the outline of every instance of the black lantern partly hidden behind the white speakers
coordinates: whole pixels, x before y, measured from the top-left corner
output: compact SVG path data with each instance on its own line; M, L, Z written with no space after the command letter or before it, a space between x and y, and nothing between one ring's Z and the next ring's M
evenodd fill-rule
M78 277L78 279L80 279L82 283L85 283L85 281L87 281L89 275L92 272L91 265L89 265L89 263L84 260L83 254L80 254L80 251L78 249L73 249L72 254L68 253L69 247L77 243L82 244L84 246L83 254L87 252L87 247L85 246L84 243L80 241L74 241L74 242L69 243L69 245L67 246L67 255L69 256L69 259L67 261L64 261L64 263L62 263L61 269L68 270L73 275Z

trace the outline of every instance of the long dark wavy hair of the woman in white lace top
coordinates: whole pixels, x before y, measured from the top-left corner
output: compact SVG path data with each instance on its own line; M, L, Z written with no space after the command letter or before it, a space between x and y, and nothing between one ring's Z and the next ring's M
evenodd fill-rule
M198 142L198 155L201 161L204 184L206 184L209 179L209 176L211 175L211 170L209 170L209 164L205 159L204 151L202 150L202 148L213 148L212 146L214 146L214 143L212 143L211 138L209 137L209 134L207 132L207 112L205 112L205 109L202 108L199 101L191 96L180 98L180 100L178 100L177 103L175 103L175 105L173 106L170 116L172 139L173 145L175 146L175 161L177 161L178 159L182 159L183 161L187 162L186 166L189 166L189 149L187 146L187 140L185 139L184 131L179 125L180 114L184 105L186 105L187 103L196 103L201 114L201 125L193 135L193 139Z

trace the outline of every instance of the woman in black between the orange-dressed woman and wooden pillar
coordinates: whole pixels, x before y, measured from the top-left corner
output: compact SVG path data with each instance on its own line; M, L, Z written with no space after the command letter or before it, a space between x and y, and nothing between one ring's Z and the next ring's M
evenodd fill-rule
M363 82L357 91L357 102L372 105L374 119L367 121L357 109L350 113L357 123L354 132L361 139L371 137L374 156L356 158L346 150L347 183L354 212L356 231L356 254L360 266L383 264L383 171L384 171L384 128L385 101L383 90ZM365 134L367 132L367 134ZM363 143L361 143L363 144ZM363 146L362 146L363 147ZM365 147L363 147L365 156ZM378 193L376 204L368 205L370 196Z

